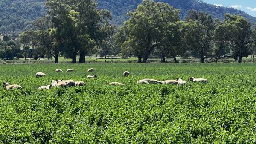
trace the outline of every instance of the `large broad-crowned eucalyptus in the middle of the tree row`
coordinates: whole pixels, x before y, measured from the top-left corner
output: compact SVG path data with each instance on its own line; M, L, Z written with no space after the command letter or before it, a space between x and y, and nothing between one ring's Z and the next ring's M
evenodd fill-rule
M180 19L179 10L166 3L155 3L153 0L143 0L134 12L127 15L130 18L122 27L127 37L122 46L132 48L132 51L137 53L139 62L143 56L142 63L147 62L154 49L163 46L166 25Z

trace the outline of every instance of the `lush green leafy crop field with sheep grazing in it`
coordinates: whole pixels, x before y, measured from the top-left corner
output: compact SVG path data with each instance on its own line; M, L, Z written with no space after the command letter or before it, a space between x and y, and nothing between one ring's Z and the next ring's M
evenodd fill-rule
M209 82L192 83L192 76ZM136 85L182 77L185 86ZM53 79L86 86L37 90ZM256 143L254 63L1 65L0 80L23 87L0 89L0 143Z

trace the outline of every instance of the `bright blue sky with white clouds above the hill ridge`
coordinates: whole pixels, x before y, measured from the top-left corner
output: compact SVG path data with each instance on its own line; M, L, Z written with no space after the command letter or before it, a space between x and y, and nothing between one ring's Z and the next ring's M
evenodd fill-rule
M256 0L203 0L209 4L234 7L256 17Z

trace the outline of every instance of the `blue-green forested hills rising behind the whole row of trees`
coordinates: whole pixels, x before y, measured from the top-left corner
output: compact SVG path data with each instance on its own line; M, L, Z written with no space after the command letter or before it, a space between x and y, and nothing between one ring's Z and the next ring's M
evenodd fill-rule
M141 0L96 0L99 8L109 9L113 15L112 23L120 26L128 19L127 12L133 11ZM186 17L190 9L204 11L212 14L213 18L224 19L224 14L241 14L250 20L251 24L256 22L256 17L250 16L243 11L233 8L217 7L197 0L156 0L169 3L180 9L180 17ZM28 29L32 20L46 14L45 0L0 0L0 33L21 32Z

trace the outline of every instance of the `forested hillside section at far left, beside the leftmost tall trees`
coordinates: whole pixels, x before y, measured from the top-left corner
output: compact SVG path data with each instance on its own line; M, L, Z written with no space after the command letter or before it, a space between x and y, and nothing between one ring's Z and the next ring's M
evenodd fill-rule
M0 32L13 33L30 27L46 14L45 0L0 0Z

